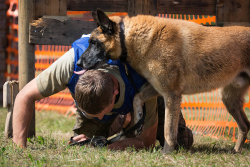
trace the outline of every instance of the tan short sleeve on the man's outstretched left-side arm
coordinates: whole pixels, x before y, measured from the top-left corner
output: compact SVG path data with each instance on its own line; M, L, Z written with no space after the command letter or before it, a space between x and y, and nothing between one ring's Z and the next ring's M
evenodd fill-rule
M64 90L74 72L74 49L71 48L49 68L36 77L36 84L43 97Z

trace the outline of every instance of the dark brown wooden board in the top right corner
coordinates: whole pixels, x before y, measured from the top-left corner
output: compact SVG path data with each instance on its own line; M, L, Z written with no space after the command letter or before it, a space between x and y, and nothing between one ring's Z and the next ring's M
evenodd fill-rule
M249 0L219 0L217 4L217 23L219 26L244 25L250 23Z

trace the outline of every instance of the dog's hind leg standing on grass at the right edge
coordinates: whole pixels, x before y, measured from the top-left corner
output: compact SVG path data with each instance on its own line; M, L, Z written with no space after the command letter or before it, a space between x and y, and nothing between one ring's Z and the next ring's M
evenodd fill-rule
M250 122L243 111L244 95L248 90L249 81L242 87L235 87L230 84L221 91L222 101L228 112L233 116L238 125L238 140L234 152L241 152L243 144L250 129Z

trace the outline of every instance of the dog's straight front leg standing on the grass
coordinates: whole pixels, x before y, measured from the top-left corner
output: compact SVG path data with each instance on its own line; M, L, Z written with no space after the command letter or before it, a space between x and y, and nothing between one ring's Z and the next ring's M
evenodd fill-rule
M165 144L163 153L168 154L175 150L177 144L177 129L181 111L182 94L175 91L169 91L163 95L163 97L165 101Z

